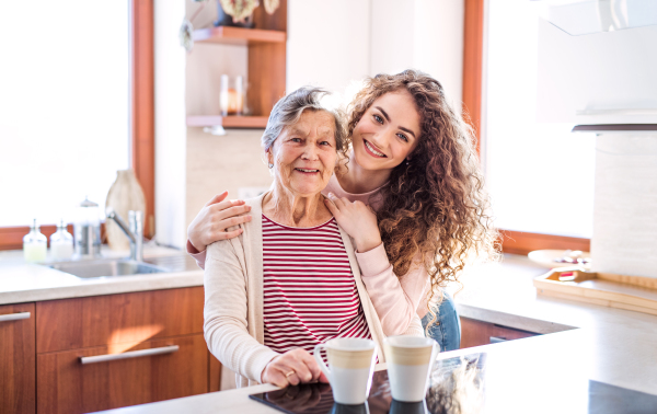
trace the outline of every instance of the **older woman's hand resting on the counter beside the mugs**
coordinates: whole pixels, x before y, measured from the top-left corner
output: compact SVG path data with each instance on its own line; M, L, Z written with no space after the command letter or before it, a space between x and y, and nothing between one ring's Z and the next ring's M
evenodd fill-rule
M262 383L273 383L285 388L300 382L328 382L312 355L306 349L296 348L272 359L262 373Z

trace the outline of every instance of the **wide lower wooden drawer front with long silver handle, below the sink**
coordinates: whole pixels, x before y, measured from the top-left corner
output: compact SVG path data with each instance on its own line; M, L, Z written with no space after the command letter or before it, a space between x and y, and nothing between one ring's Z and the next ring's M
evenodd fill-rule
M89 413L208 391L208 350L201 334L127 347L102 346L37 357L37 412ZM82 364L81 357L162 349L168 354ZM118 352L117 352L118 350ZM129 355L129 354L127 354Z

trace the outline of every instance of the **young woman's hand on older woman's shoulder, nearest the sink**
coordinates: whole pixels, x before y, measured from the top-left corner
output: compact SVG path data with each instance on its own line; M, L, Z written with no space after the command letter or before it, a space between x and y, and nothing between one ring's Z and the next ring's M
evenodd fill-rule
M240 216L251 211L251 206L245 205L241 199L224 200L227 196L228 192L214 196L187 228L187 238L199 252L218 240L237 238L242 233L242 229L233 231L226 231L226 229L251 221L251 215Z

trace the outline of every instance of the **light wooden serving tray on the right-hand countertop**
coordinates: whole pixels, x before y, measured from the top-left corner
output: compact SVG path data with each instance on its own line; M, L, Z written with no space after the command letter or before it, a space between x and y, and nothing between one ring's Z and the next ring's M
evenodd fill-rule
M539 295L657 314L657 278L555 268L534 278Z

